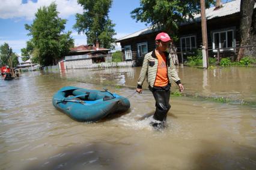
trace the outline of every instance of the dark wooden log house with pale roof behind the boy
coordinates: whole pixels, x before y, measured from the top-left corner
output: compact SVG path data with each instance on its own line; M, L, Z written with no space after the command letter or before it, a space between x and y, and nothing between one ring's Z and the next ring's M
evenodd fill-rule
M255 7L256 5L254 5L254 14ZM219 48L222 57L233 56L234 58L237 54L237 49L234 47L240 45L240 0L222 4L221 8L206 9L206 19L209 56L216 56ZM146 53L156 47L154 38L159 32L162 31L146 28L117 40L121 44L123 60L138 62L142 60ZM179 24L178 41L174 44L177 47L180 62L182 62L181 53L183 60L186 60L186 56L191 55L192 51L201 48L200 14L195 15L194 20Z

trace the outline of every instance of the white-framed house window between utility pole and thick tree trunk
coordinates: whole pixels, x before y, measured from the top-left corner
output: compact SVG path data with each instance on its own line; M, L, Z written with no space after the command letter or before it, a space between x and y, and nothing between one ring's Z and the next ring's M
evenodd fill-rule
M213 49L226 48L220 50L234 50L234 48L232 48L234 47L234 41L235 40L233 29L227 31L213 32Z

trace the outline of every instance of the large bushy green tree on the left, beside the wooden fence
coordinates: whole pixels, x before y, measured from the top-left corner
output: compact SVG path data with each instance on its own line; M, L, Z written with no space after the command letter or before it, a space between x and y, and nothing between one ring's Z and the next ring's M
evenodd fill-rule
M52 3L49 7L38 9L32 25L25 25L29 31L28 35L32 36L30 41L34 46L33 51L37 50L36 60L40 65L55 65L57 60L74 46L74 40L70 37L71 32L64 32L66 22L58 17L56 4Z

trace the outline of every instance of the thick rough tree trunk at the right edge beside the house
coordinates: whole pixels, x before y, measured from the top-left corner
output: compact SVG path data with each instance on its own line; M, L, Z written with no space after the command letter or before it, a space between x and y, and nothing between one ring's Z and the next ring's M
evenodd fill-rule
M241 0L240 4L240 47L248 45L250 42L250 38L252 38L253 29L252 25L252 14L254 12L254 0ZM251 44L250 44L251 45ZM246 50L249 48L239 48L237 61L240 61L242 57L245 55Z

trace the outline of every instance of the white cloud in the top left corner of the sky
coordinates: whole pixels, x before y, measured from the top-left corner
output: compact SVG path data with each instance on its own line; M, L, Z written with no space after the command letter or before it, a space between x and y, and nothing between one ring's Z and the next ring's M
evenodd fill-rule
M21 0L1 0L0 18L16 19L24 17L26 20L32 20L38 8L49 6L52 2L57 4L59 17L67 18L70 15L82 13L82 7L77 0L38 0L37 2L28 0L26 4L22 4Z

